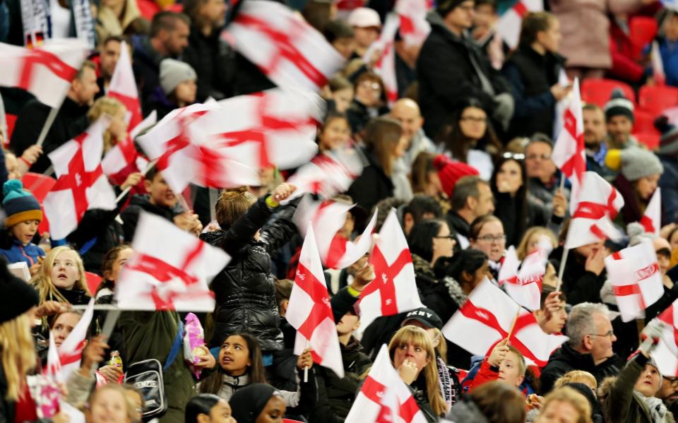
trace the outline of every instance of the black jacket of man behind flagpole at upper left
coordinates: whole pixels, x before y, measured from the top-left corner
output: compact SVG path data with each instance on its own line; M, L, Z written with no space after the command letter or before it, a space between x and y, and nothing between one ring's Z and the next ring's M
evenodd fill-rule
M37 100L31 100L21 109L9 143L9 147L16 153L16 157L20 157L26 148L36 143L50 110L51 107L43 105ZM90 120L87 119L87 111L87 106L78 105L69 97L64 99L64 103L57 112L57 117L54 118L52 126L47 131L47 136L44 138L43 153L37 159L37 162L30 167L31 172L42 173L47 170L52 164L47 155L88 128Z

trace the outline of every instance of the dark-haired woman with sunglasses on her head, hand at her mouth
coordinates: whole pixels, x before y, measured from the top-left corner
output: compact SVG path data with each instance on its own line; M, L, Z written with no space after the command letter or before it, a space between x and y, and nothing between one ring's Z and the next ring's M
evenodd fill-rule
M529 227L547 226L560 232L566 212L566 203L554 197L553 209L534 200L528 191L523 155L506 153L494 167L490 187L494 194L494 215L501 220L506 234L506 245L517 246Z

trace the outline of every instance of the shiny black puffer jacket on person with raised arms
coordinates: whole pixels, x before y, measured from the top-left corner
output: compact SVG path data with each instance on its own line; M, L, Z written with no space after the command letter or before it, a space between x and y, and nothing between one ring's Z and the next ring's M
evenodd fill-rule
M203 241L220 247L231 256L228 266L212 281L217 304L210 347L220 345L230 333L248 332L258 338L262 350L283 350L280 315L270 274L270 253L297 232L291 220L297 203L292 201L280 207L268 221L273 210L262 197L227 230L201 234ZM254 234L259 228L261 232L256 241Z

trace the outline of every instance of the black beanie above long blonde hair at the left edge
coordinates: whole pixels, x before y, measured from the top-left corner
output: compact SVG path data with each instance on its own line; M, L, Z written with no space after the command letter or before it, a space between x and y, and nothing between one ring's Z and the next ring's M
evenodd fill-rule
M38 304L37 292L28 283L12 275L7 268L7 261L0 256L0 323L11 321Z

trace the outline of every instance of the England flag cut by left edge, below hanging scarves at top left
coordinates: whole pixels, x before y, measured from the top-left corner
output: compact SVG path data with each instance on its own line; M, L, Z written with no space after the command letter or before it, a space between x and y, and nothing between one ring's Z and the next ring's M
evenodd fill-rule
M89 47L76 38L46 40L35 49L0 42L0 85L21 88L49 107L60 107Z

